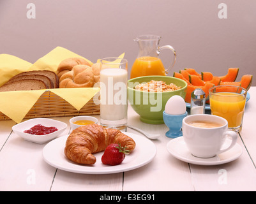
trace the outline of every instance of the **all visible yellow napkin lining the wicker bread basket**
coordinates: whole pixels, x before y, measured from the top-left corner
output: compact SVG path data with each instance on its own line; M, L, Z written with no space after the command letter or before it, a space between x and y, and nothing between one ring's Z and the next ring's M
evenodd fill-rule
M82 57L63 47L56 47L48 54L38 59L34 64L19 59L18 57L1 54L0 55L0 86L7 82L11 77L24 72L33 70L50 70L57 72L59 63L70 57ZM123 58L124 53L119 55ZM82 57L83 59L86 59ZM90 64L93 62L86 59ZM97 62L99 62L98 60ZM3 73L3 75L2 75ZM34 103L40 98L46 90L36 91L10 91L0 92L0 112L4 113L10 119L19 123L24 119L27 112L32 108ZM66 100L78 111L100 91L100 88L73 88L73 89L49 89L54 94Z

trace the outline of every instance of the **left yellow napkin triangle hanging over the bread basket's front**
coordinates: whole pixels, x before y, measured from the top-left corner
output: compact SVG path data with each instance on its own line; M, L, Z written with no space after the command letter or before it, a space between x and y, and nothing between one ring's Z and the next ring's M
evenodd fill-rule
M0 92L0 110L19 123L45 90Z

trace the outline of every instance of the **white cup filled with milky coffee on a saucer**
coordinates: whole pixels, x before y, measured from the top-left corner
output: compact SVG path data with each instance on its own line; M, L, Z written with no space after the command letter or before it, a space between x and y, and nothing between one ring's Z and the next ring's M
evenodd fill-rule
M226 119L216 115L190 115L183 119L183 138L188 150L195 157L210 158L231 149L237 133L228 131ZM228 147L222 147L226 140ZM226 144L225 144L226 145Z

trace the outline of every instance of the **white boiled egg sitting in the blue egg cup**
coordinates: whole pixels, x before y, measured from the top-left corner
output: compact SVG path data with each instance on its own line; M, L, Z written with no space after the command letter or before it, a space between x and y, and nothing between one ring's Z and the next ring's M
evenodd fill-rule
M182 115L186 113L186 103L181 96L174 95L165 105L165 113L169 115Z

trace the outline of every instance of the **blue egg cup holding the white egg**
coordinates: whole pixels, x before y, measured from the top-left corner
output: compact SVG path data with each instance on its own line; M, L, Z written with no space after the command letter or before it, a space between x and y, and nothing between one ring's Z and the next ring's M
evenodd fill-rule
M179 136L183 136L181 131L182 128L182 120L184 117L188 115L188 112L181 115L170 115L163 112L163 121L165 125L170 129L165 133L165 135L169 138L177 138Z

